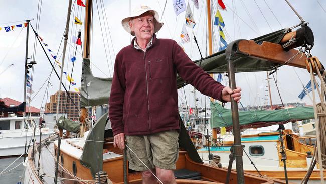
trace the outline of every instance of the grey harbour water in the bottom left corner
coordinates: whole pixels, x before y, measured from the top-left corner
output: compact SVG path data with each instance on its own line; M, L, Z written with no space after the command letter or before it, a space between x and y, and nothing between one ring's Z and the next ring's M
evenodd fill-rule
M0 183L17 184L18 182L21 182L23 184L24 165L22 162L23 162L24 158L21 157L18 160L16 160L17 158L18 157L0 159L0 173L2 172L0 174ZM15 161L15 163L13 163L14 161ZM13 163L13 164L10 167L8 167L8 165L10 165L11 163ZM4 171L4 169L6 167L8 167L8 168ZM14 168L14 167L16 167L16 168Z

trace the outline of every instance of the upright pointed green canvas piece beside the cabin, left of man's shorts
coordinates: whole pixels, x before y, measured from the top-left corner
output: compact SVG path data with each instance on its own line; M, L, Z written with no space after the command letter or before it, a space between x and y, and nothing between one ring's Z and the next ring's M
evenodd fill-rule
M93 125L83 147L80 163L88 167L95 178L97 171L103 170L103 139L107 113L102 115ZM98 170L99 169L99 170Z

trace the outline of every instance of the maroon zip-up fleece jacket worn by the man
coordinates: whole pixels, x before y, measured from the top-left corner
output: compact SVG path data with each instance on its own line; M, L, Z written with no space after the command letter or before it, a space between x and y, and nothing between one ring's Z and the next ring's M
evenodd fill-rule
M225 87L198 67L171 39L157 39L143 52L131 45L117 54L109 100L113 135L178 130L177 73L202 94L221 100Z

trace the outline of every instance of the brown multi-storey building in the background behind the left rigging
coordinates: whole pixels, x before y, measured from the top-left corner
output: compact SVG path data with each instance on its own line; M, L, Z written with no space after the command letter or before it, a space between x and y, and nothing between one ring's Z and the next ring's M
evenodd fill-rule
M45 113L56 113L57 112L57 102L58 102L58 94L57 91L55 94L50 96L50 102L45 104ZM74 101L75 105L79 108L80 107L80 95L79 92L70 91L69 95L71 99ZM67 109L66 109L67 103ZM68 95L65 91L61 91L60 94L60 104L59 104L59 113L67 113L67 118L70 120L78 120L79 118L79 111L75 107L73 102L71 102Z

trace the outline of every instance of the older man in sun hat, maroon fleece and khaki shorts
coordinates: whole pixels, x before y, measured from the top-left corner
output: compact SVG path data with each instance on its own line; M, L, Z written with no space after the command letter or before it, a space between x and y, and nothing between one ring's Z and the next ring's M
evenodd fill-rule
M241 88L232 91L216 82L174 40L157 39L155 33L163 25L158 20L158 13L147 6L122 20L123 28L136 37L116 56L109 117L114 147L124 149L126 140L129 168L142 171L143 183L157 181L147 167L161 182L175 183L177 73L201 93L223 102L239 102Z

